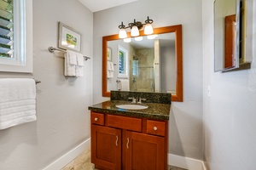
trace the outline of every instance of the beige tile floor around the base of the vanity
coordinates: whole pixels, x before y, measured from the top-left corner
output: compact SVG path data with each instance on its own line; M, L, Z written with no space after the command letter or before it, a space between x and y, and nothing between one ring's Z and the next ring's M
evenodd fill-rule
M90 162L90 150L85 150L82 154L69 162L61 170L96 170ZM169 170L186 170L180 167L169 166Z

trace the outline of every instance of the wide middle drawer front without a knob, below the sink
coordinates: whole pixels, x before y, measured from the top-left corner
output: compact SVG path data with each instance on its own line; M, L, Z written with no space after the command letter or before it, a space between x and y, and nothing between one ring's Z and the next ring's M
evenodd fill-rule
M142 119L126 116L108 115L107 126L142 132Z

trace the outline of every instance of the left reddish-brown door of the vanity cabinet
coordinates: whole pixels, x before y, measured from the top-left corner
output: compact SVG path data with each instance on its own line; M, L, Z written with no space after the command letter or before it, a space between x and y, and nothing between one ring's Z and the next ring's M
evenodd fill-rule
M121 130L91 125L91 162L104 169L121 169Z

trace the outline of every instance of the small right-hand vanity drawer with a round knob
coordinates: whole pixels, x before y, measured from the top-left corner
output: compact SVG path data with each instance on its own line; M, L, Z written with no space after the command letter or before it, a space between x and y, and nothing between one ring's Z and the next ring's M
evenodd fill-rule
M165 136L166 134L166 122L158 122L147 120L147 133Z

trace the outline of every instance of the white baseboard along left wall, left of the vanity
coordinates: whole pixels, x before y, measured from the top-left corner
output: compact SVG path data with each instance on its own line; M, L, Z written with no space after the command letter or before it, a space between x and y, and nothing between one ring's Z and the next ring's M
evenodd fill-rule
M90 139L85 140L73 150L70 150L64 156L61 156L59 159L49 164L49 166L45 167L43 170L59 170L62 167L65 167L70 161L73 161L73 159L79 156L87 148L90 148Z

